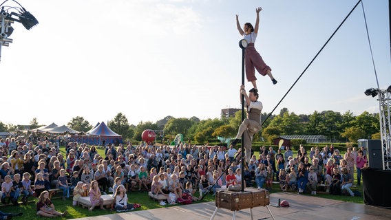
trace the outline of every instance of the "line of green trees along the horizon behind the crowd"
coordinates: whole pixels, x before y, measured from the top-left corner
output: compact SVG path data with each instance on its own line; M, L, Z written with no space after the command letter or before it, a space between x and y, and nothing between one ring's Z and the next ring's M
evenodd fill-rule
M297 115L283 108L279 114L270 115L262 113L262 131L254 137L255 141L272 142L279 135L325 135L330 142L357 142L359 138L379 138L379 113L364 111L360 115L353 115L346 111L314 111L310 115ZM267 120L266 120L267 118ZM123 135L124 140L141 141L142 131L152 129L163 131L156 136L165 143L181 133L184 140L192 143L204 144L209 140L220 137L235 137L237 128L242 121L242 112L237 111L230 118L214 118L200 120L192 118L174 118L170 115L157 122L139 122L137 125L129 124L123 113L118 113L108 122L114 132ZM30 129L38 127L36 118L30 122ZM92 124L81 116L72 118L67 126L76 131L88 131ZM0 122L0 131L15 131L18 126Z

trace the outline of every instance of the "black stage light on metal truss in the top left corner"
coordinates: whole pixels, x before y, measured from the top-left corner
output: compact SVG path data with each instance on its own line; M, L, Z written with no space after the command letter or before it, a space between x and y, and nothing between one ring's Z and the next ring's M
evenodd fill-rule
M17 3L19 6L9 6L4 5L7 1L12 1ZM8 47L10 43L12 43L12 39L9 38L12 32L14 32L14 28L12 28L11 24L16 22L21 23L25 29L30 30L32 27L38 24L38 20L21 4L19 4L15 0L6 0L3 1L0 5L0 58L1 58L1 47Z

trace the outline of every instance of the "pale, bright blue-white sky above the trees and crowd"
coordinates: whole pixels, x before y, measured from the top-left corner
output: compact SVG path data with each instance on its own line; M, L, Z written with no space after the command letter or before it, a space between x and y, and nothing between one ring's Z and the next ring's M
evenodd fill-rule
M34 3L33 3L34 2ZM270 112L324 45L356 0L19 0L39 21L14 23L2 47L0 121L90 124L122 112L130 124L220 118L240 108L241 25L255 23L255 48L277 85L256 73ZM391 85L388 1L363 1L381 89ZM14 5L8 1L6 5ZM251 89L251 83L245 83ZM377 87L361 4L319 54L275 113L379 112L363 92Z

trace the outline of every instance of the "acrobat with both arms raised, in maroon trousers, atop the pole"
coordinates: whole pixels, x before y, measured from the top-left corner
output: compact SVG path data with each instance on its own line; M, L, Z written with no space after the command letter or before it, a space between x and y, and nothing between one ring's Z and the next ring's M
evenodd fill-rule
M239 15L236 14L236 26L240 35L249 43L245 50L245 59L246 59L246 78L249 82L253 84L254 89L257 89L257 78L255 77L255 69L262 76L268 75L273 84L277 83L277 80L271 74L271 67L266 65L260 54L255 50L254 43L255 39L257 39L258 28L260 25L260 11L262 8L256 8L255 12L257 12L257 19L255 21L255 26L251 25L251 23L245 23L244 28L240 28L239 23Z

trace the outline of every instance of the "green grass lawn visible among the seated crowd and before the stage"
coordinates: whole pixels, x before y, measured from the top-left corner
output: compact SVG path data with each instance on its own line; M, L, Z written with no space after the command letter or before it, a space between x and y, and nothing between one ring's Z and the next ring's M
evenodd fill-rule
M65 148L61 148L61 152L65 155ZM98 149L98 153L100 155L104 154L103 149ZM258 156L258 153L255 152L255 155ZM355 179L357 173L355 173ZM361 192L361 195L363 195L362 186L352 188L352 190L359 190ZM279 190L279 186L277 184L273 184L273 189L271 193L273 192L281 192ZM295 192L292 192L295 193ZM58 194L59 195L59 194ZM197 195L196 195L197 196ZM327 199L337 199L340 201L347 201L347 202L354 202L354 203L363 203L363 197L350 197L350 196L344 196L344 195L328 195L328 194L318 194L318 195L310 195L313 197L321 197L321 198L327 198ZM167 206L160 206L157 201L154 201L148 197L147 192L128 192L128 198L130 203L139 203L141 205L140 208L134 210L149 210L154 208L162 208ZM56 219L75 219L75 218L83 218L83 217L92 217L92 216L98 216L103 214L113 214L115 211L112 210L99 210L96 209L93 212L89 212L86 208L81 208L81 206L72 206L72 199L67 199L66 201L63 201L62 199L52 199L54 206L56 207L56 210L59 210L60 212L64 212L67 210L69 213L66 218L62 217L56 217ZM195 203L200 202L208 202L208 201L215 201L215 198L212 195L207 195L202 201L197 201ZM179 205L176 205L179 206ZM30 197L30 202L26 206L1 206L0 210L3 212L23 212L22 217L14 217L13 219L41 219L41 217L36 216L36 199L32 199ZM133 212L134 212L133 211Z

